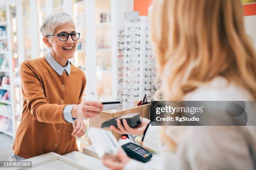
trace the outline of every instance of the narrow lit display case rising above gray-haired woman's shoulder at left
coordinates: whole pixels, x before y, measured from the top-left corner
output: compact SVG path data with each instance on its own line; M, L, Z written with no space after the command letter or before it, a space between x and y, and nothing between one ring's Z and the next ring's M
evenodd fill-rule
M30 18L29 0L22 1L22 22L23 22L23 38L24 38L24 60L31 60L31 18Z

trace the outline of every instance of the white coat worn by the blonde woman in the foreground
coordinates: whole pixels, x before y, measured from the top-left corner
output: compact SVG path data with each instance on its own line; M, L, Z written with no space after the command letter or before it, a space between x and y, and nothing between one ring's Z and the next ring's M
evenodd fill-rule
M253 100L241 87L217 77L184 97L184 101ZM253 170L256 168L256 126L178 126L166 135L178 143L175 153L166 150L158 138L160 127L149 126L143 145L161 154L164 170ZM154 157L154 155L153 155ZM143 163L131 160L124 170L141 170Z

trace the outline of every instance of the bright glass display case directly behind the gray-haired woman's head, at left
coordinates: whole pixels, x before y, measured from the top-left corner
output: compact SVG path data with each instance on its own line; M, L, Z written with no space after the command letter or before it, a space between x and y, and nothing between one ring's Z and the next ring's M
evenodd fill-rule
M37 10L37 35L38 35L38 57L46 56L49 51L48 47L43 42L43 35L41 35L40 28L46 18L46 1L37 0L36 1L36 10Z

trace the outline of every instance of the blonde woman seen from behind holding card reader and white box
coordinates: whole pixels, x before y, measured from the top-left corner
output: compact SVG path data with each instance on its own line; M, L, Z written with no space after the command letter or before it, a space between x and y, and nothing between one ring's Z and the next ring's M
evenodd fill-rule
M164 100L256 100L256 53L244 30L241 0L155 0L151 40ZM118 123L112 127L118 133L145 134L144 146L160 150L166 170L256 168L254 126L159 131L147 119L136 129ZM118 158L103 163L113 170L145 169L121 151Z

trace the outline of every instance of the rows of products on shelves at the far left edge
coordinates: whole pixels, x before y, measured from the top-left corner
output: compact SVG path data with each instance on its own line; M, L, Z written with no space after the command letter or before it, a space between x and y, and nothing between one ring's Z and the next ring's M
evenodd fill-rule
M8 5L0 5L0 132L14 136ZM12 12L12 11L11 11Z

